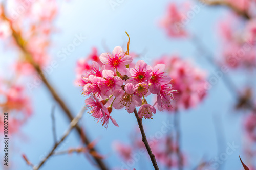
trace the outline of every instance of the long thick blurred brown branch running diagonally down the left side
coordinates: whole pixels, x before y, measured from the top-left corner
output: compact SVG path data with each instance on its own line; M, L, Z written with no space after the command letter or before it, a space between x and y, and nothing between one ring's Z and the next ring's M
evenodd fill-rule
M3 5L2 5L3 8ZM4 8L3 8L4 9ZM44 82L44 84L46 85L46 87L48 88L48 90L50 91L52 97L55 99L55 101L59 104L59 106L61 107L61 109L66 113L67 117L69 118L70 122L74 119L71 111L68 109L66 103L60 98L60 96L57 94L57 92L55 91L55 89L53 88L53 86L48 82L48 80L46 79L44 73L42 72L40 66L33 60L32 55L29 53L29 51L27 51L26 49L26 44L25 41L23 40L23 37L21 37L16 31L15 29L12 27L12 23L11 21L6 17L4 11L3 11L3 15L2 17L8 21L10 23L10 27L12 30L12 36L14 38L14 40L16 41L18 47L20 48L20 50L24 53L25 58L30 62L30 64L34 67L34 69L36 70L37 74L41 77L42 82ZM76 132L77 134L81 137L82 142L85 145L89 145L91 142L88 139L87 135L82 131L81 127L79 125L75 125L76 128ZM96 151L95 148L91 148L90 153L98 153ZM102 169L102 170L107 170L108 168L106 167L105 163L97 158L96 156L94 156L94 154L91 154L92 157L94 158L94 160L97 162L98 166Z

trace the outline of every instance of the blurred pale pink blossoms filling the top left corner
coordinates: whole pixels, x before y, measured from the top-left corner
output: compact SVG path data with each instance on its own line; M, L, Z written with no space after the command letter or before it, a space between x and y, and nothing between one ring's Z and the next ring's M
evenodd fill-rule
M55 0L24 1L11 0L6 3L10 8L0 9L0 39L10 40L9 47L17 47L12 33L18 34L17 38L31 54L34 62L45 66L49 62L49 46L51 35L54 32L53 20L58 8ZM5 9L5 10L4 10ZM22 38L21 38L22 37ZM17 71L31 72L25 58L20 58L15 64Z

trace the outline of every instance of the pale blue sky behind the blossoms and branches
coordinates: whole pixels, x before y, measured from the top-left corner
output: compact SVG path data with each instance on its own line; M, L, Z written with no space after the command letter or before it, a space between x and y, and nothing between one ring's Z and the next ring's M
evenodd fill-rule
M93 46L98 47L100 53L104 52L102 42L113 50L115 46L124 45L127 42L125 31L130 35L131 51L141 53L146 50L147 58L154 59L163 54L178 53L184 58L194 60L195 65L207 70L209 75L215 72L215 68L207 63L204 56L197 53L195 46L185 39L169 39L164 31L158 27L159 19L164 15L166 5L170 1L119 1L119 6L113 8L110 1L69 1L60 7L60 14L56 20L59 32L52 39L54 46L51 48L53 60L58 66L48 75L50 82L57 92L68 104L74 114L84 104L85 98L81 96L80 88L74 86L76 61L91 52ZM216 22L227 9L201 7L198 14L190 20L188 28L196 34L215 57L219 48L216 38ZM65 60L58 58L58 52L73 42L76 35L85 36L86 39ZM7 56L13 56L11 52L4 52L3 44L0 52ZM6 57L0 57L0 62L6 62ZM10 60L10 59L8 59ZM231 72L230 72L231 73ZM230 74L229 73L229 74ZM243 77L231 78L240 85ZM235 79L236 78L236 79ZM25 153L31 162L38 163L42 156L53 145L51 107L55 105L50 93L44 85L32 91L28 90L33 101L34 114L21 129L23 135L15 136L11 140L12 169L30 169L20 156ZM224 169L239 169L239 154L242 154L243 141L241 139L241 115L234 114L232 105L234 99L222 80L213 86L207 94L207 98L194 109L181 112L181 139L182 150L188 155L189 164L195 166L200 159L214 159L218 156L218 147L214 117L218 117L217 126L221 129L225 139L222 145L226 148L228 143L236 143L239 148L224 161ZM61 109L56 109L56 126L58 137L68 127L68 121ZM130 142L129 135L135 133L137 126L133 114L125 113L125 110L114 110L113 117L119 124L119 128L111 123L108 130L97 124L89 114L84 114L81 125L92 140L100 139L97 148L102 154L108 155L105 162L112 168L121 167L122 160L113 152L112 141L120 140ZM167 113L160 113L154 119L143 120L147 135L154 135L160 130L162 122L166 120ZM61 145L59 150L76 147L80 144L74 132ZM225 152L225 148L222 152ZM142 162L141 162L142 161ZM147 162L146 169L153 169L147 158L136 163L135 168L140 169L140 163ZM192 166L192 167L193 167ZM62 155L52 157L41 169L93 169L94 167L83 155ZM191 166L190 166L191 167Z

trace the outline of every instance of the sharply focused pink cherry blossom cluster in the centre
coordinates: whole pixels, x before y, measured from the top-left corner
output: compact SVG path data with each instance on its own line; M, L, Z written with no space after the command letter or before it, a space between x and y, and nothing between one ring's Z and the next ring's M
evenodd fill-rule
M92 61L90 69L82 75L83 94L89 96L86 104L90 113L102 125L108 126L109 119L118 126L110 115L112 108L124 108L133 113L140 107L139 117L151 118L156 113L154 105L148 104L145 97L150 94L157 96L155 105L159 110L172 107L174 99L172 84L165 65L157 64L154 68L139 60L134 65L129 52L120 46L111 53L102 53L98 62Z

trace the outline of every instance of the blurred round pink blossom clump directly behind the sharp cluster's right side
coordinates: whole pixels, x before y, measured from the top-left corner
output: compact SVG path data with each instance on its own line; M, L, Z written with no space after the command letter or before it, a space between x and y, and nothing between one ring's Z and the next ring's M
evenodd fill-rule
M195 107L204 99L207 81L203 70L178 56L163 56L156 60L155 63L157 65L159 63L167 63L166 68L169 77L172 77L173 87L178 91L176 100L172 104L173 107L169 107L170 109L175 111L179 108ZM161 86L161 90L165 88L165 86Z

